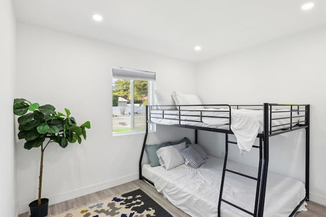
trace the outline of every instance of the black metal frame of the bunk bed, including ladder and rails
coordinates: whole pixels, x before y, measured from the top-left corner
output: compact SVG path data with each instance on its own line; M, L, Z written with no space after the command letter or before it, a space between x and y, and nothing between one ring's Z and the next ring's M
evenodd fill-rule
M172 105L164 105L164 106L172 106ZM173 105L174 106L174 105ZM298 208L305 202L309 200L309 128L310 128L310 105L309 104L277 104L277 103L264 103L263 105L228 105L228 104L209 104L209 105L176 105L179 109L178 114L165 114L165 111L169 110L161 110L158 109L157 105L147 105L146 106L146 132L145 132L145 138L144 138L144 143L143 143L143 148L141 152L141 157L139 161L139 171L140 171L140 179L144 179L150 184L154 185L153 182L148 180L146 177L142 175L142 160L143 160L143 155L144 155L144 150L145 150L145 145L146 145L146 140L147 140L147 135L148 135L148 126L150 123L154 123L151 121L151 118L155 119L170 119L174 121L178 121L178 124L170 124L169 126L177 126L177 127L184 127L184 128L191 128L195 129L195 143L197 143L197 130L206 130L206 131L214 131L214 132L222 132L225 133L225 158L224 158L224 165L223 165L223 173L222 173L222 180L221 180L221 188L220 188L220 196L219 196L219 204L218 204L218 216L221 216L221 203L227 203L235 208L238 208L239 210L246 212L248 214L251 214L253 216L263 216L264 212L264 203L265 203L265 193L266 193L266 181L267 181L267 170L268 170L268 155L269 155L269 137L272 137L274 135L278 135L281 133L286 133L290 132L293 130L298 130L298 129L306 129L306 168L305 168L305 175L306 175L306 180L305 180L305 187L306 187L306 196L305 198L298 204L295 209L292 211L292 213L289 216L293 216ZM218 106L218 107L226 107L228 108L226 112L228 113L228 117L219 117L219 116L205 116L203 115L203 112L207 111L198 111L198 110L183 110L184 107L186 106ZM161 105L160 105L161 107ZM258 108L257 108L258 107ZM273 110L273 107L276 109ZM289 108L288 111L278 111L277 109L280 109L280 107L286 107ZM263 110L263 132L258 133L257 138L259 138L259 146L253 146L254 148L259 148L259 166L258 166L258 175L256 177L248 176L246 174L241 174L236 171L232 171L226 168L227 166L227 158L228 158L228 146L229 144L237 144L236 142L232 142L228 140L228 135L233 134L231 130L231 108L239 109L239 108L250 108L254 110ZM160 113L152 113L152 111L159 111ZM171 111L171 110L170 110ZM175 111L175 110L174 110ZM200 112L200 115L186 115L182 114L182 112L189 112L189 111L194 111L194 112ZM221 112L221 111L219 111ZM290 117L285 117L285 118L273 118L272 115L273 113L278 113L278 112L288 112L290 113ZM292 113L297 113L298 118L301 118L297 122L292 123ZM162 117L151 117L152 114L159 114ZM164 116L172 116L174 118L165 118ZM200 121L198 120L188 120L188 119L182 119L184 117L191 116L191 117L197 117L200 118ZM187 121L187 122L202 122L203 117L208 117L208 118L228 118L229 119L229 129L219 129L219 128L210 128L210 127L200 127L200 126L194 126L194 125L186 125L182 124L182 121ZM281 125L272 125L271 121L272 120L277 120L277 119L290 119L289 123L286 124L281 124ZM155 123L159 124L159 123ZM281 129L275 129L273 130L274 127L281 127L281 126L288 126L287 128L281 128ZM229 201L226 201L223 199L223 186L224 186L224 178L225 178L225 173L230 172L234 173L240 176L244 176L250 179L254 179L257 181L257 188L256 188L256 198L255 198L255 208L254 212L251 212L249 210L243 209Z

